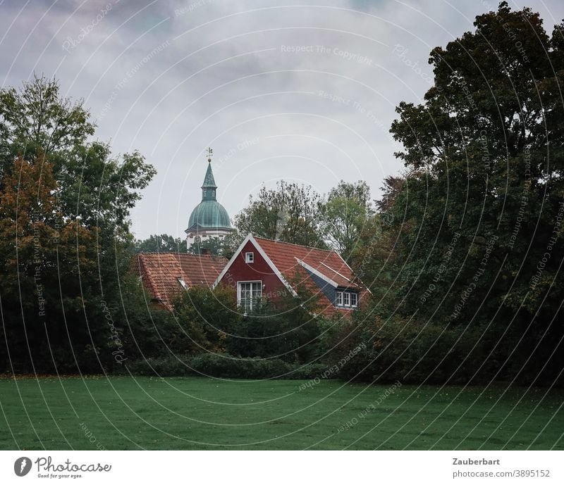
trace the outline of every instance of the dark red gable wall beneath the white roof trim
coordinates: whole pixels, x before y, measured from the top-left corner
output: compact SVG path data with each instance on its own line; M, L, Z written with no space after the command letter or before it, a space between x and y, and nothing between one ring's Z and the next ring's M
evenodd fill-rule
M255 253L255 262L245 263L245 253L251 252ZM255 248L251 241L247 241L243 250L233 261L233 264L227 270L226 274L223 275L220 284L233 286L233 288L237 289L237 282L259 280L261 280L263 284L263 297L276 300L276 297L280 296L281 292L288 294L286 286L282 284L280 279L270 269L259 251L257 251L257 248Z

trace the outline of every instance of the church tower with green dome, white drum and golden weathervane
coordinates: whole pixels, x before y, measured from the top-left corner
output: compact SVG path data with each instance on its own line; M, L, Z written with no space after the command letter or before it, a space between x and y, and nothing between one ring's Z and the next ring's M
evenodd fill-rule
M233 232L227 210L216 200L217 185L212 172L212 149L208 149L207 170L202 184L202 202L200 202L188 220L186 244L188 247L200 238L205 241L212 237L226 237Z

